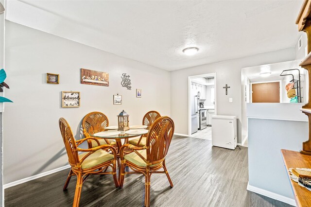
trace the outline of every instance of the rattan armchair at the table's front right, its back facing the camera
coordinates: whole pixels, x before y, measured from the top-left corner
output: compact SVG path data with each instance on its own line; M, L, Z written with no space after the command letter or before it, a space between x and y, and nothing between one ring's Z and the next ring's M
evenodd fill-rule
M145 206L150 206L150 177L152 173L165 173L169 179L171 188L173 182L165 166L165 157L170 147L174 134L174 122L169 117L161 117L152 125L147 135L147 144L143 147L125 144L121 147L121 167L119 170L119 184L123 187L124 175L142 173L145 175ZM134 152L124 155L125 148ZM128 166L134 172L125 172ZM163 168L164 171L158 171Z

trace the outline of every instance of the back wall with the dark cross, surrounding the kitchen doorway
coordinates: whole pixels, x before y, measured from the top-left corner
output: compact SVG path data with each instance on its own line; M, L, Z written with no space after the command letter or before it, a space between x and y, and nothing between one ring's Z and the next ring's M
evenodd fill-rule
M294 60L294 48L173 71L171 73L171 116L175 121L175 132L188 134L188 76L216 72L217 114L238 116L238 142L241 143L241 69L289 60ZM230 86L228 95L225 95L223 88L225 84ZM229 103L229 98L233 98L233 103Z

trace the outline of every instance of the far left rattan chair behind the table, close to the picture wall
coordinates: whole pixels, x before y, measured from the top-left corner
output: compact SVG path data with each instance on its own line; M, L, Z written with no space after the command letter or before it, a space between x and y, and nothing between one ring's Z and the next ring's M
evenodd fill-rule
M104 127L109 126L109 121L106 115L101 112L94 111L91 113L86 114L82 121L82 128L85 137L89 137L90 134L95 134L98 132L105 131ZM102 144L111 144L114 147L117 147L117 142L114 139L107 139L107 138L97 138L100 145ZM87 140L87 144L89 148L98 146L96 141L94 140Z

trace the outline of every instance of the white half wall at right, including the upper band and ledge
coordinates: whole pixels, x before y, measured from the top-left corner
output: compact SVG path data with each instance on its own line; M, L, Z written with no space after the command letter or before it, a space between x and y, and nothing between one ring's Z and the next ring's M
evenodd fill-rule
M249 190L272 192L266 195L293 205L294 196L280 150L299 151L308 139L308 117L299 110L303 105L247 104ZM277 196L273 197L273 193Z

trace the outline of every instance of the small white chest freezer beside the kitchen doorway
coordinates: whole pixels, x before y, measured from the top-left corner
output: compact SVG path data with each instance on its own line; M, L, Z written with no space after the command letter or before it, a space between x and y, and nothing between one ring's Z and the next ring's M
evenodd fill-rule
M234 150L237 146L237 117L212 116L212 145Z

